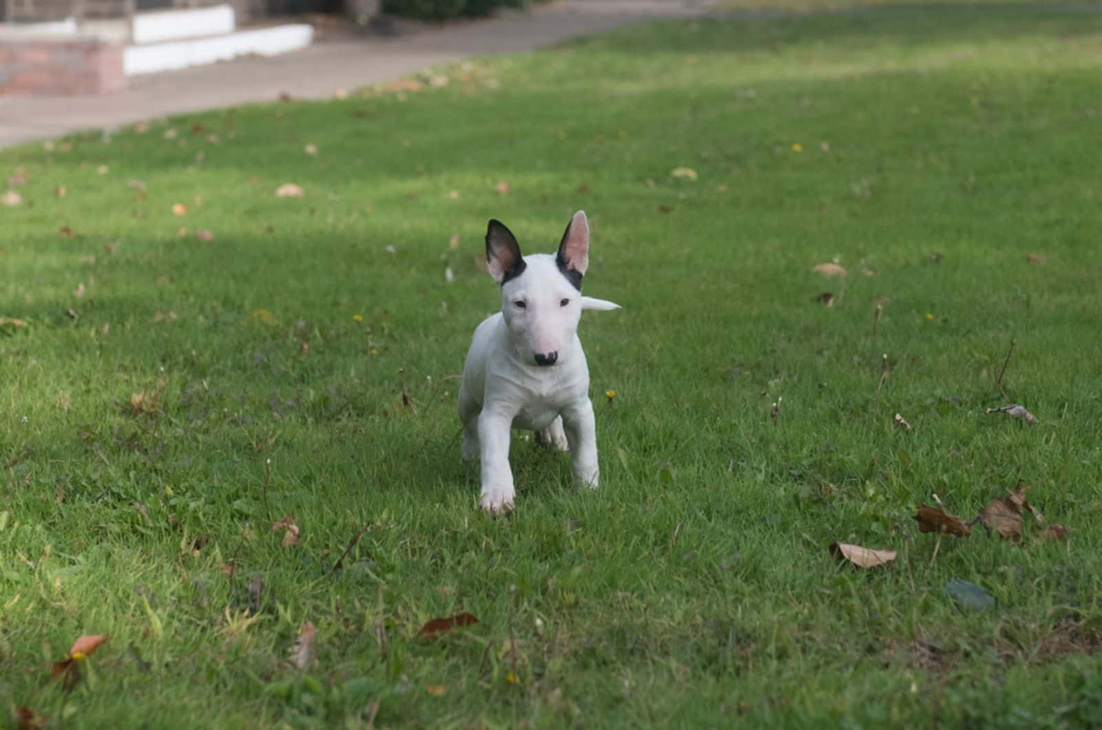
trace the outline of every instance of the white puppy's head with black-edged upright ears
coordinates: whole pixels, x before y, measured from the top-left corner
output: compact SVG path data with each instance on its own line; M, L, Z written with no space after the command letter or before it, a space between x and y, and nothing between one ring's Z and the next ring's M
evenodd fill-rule
M521 256L516 236L501 222L490 221L486 265L501 285L501 313L521 362L561 364L582 310L617 308L582 297L582 277L590 266L590 224L582 211L566 224L554 256Z

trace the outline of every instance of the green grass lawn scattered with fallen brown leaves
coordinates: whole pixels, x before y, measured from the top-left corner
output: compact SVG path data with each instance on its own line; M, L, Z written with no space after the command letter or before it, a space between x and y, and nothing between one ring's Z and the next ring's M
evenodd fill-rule
M0 152L4 716L1102 722L1102 14L665 23L437 72ZM514 439L494 519L455 416L482 236L551 251L576 208L624 305L581 326L602 486ZM1033 425L985 412L1012 341ZM912 519L1017 484L1070 539ZM65 695L82 634L110 640Z

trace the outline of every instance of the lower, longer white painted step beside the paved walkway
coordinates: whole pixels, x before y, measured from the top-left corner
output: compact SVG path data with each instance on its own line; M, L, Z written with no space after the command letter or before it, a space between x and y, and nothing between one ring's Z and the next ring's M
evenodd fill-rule
M251 54L274 56L304 49L313 37L313 25L292 23L209 37L129 45L122 51L122 71L127 76L139 76Z

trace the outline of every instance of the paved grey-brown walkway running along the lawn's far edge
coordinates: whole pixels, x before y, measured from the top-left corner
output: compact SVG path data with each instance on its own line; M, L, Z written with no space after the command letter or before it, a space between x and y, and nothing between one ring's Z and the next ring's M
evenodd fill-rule
M652 18L693 17L711 0L557 0L393 39L322 40L272 58L244 58L138 77L125 92L78 97L0 97L0 148L73 131L248 101L329 98L475 55L529 51Z

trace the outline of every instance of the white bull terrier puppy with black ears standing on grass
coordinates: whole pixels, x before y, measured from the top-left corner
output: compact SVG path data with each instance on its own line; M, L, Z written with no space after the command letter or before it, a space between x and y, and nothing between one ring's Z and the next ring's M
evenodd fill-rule
M579 211L559 253L521 257L499 221L486 230L486 265L501 286L501 311L483 321L463 366L460 420L463 459L482 459L482 508L512 508L509 429L571 451L574 477L597 486L597 434L590 402L590 368L577 339L582 310L618 304L582 296L590 265L590 224Z

